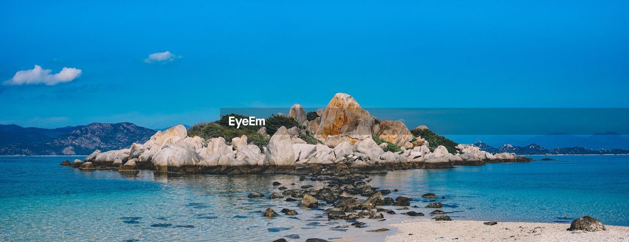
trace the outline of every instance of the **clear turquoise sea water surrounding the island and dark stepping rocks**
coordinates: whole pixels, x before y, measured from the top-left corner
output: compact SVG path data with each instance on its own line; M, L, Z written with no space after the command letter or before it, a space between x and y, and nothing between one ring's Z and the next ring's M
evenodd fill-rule
M398 188L388 196L413 197L411 205L420 208L411 209L425 214L433 209L423 208L431 202L423 193L445 196L437 200L453 219L567 223L589 215L629 226L629 156L533 158L544 157L559 160L389 171L370 176L370 184ZM365 220L367 228L338 229L348 223L328 221L326 207L247 198L252 191L278 191L273 181L288 188L323 185L294 175L121 175L58 165L64 159L75 158L0 157L0 240L328 239L412 219L385 214L387 221ZM267 219L259 212L267 207L299 214Z

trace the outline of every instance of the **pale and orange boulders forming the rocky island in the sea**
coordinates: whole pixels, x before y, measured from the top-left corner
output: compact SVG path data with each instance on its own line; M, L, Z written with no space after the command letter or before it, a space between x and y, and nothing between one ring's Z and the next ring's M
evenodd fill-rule
M213 132L206 132L207 137L192 136L184 125L177 125L158 131L144 144L133 143L127 149L106 152L96 150L84 161L63 164L81 170L120 172L307 174L386 173L531 161L515 153L491 154L447 139L448 147L430 144L421 134L436 134L425 125L409 130L403 122L380 120L345 93L337 93L326 108L316 113L306 113L295 104L288 115L278 113L272 117L282 117L290 121L287 124L296 125L282 125L276 130L262 126L254 134L262 137L262 142L248 141L247 135L226 139ZM233 127L220 129L238 131Z

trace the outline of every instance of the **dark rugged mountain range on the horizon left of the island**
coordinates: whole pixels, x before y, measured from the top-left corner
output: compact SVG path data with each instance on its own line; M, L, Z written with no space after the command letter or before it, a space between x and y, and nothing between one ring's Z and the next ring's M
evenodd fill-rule
M87 155L95 149L109 151L143 143L153 134L155 130L131 123L57 129L0 125L0 155Z

